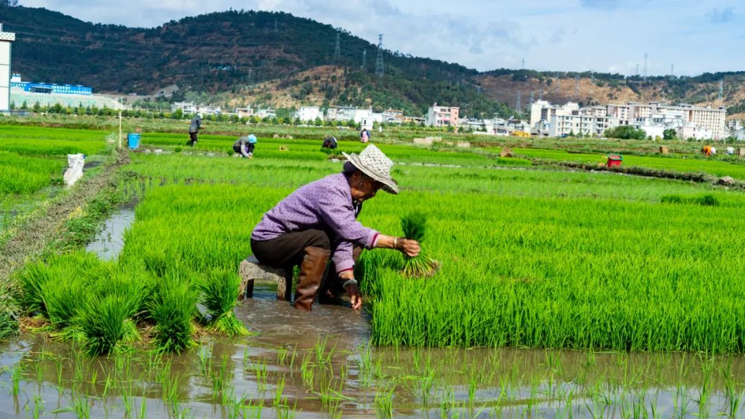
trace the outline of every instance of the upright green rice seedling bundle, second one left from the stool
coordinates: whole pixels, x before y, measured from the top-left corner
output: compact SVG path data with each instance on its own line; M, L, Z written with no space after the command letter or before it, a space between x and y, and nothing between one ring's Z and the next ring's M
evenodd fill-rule
M148 311L155 322L153 339L161 351L180 352L197 345L191 337L191 319L198 299L199 292L181 275L169 273L157 284Z

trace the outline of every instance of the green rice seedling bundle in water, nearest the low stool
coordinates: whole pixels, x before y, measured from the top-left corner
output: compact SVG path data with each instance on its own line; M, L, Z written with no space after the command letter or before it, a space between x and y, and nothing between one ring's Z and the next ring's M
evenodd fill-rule
M226 269L215 269L200 284L201 302L212 317L207 330L228 336L248 336L250 332L233 313L238 304L241 277Z

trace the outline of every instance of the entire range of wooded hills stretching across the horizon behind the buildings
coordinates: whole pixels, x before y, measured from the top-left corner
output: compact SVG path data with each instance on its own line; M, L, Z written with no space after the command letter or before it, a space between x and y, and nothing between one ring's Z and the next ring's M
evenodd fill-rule
M384 51L385 75L378 77L376 45L288 13L229 10L157 28L127 28L41 8L0 6L0 22L16 33L13 71L25 80L85 84L97 92L142 95L175 83L181 97L215 104L370 105L420 115L437 102L483 117L516 114L507 106L516 106L517 92L523 106L533 92L536 99L556 102L671 100L745 109L745 73L739 72L648 80L524 70L479 73ZM340 57L335 60L337 33ZM725 95L717 101L720 78Z

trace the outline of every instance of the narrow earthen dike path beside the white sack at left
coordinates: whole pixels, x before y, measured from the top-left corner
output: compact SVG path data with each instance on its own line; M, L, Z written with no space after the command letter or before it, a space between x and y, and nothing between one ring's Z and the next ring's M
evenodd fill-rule
M63 234L65 223L75 212L85 207L102 189L113 185L118 168L129 161L127 152L118 153L115 160L98 173L90 178L84 177L75 187L51 199L48 205L13 226L9 231L10 238L0 243L0 284L5 283L26 260L42 255L47 244Z

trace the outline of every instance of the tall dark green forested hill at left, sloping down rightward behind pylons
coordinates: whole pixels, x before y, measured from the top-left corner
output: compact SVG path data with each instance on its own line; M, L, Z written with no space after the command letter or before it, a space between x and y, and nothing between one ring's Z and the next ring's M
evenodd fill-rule
M322 96L330 103L370 103L418 114L440 102L465 106L472 114L509 113L478 93L473 79L478 72L462 65L385 51L386 75L375 77L376 45L344 31L335 63L337 30L288 13L230 10L157 28L126 28L45 9L0 7L0 22L16 33L13 71L27 80L138 94L177 83L182 92L241 95L268 80L299 91L302 80L294 78L299 71L335 64L344 77L324 80ZM361 68L363 51L367 60Z

